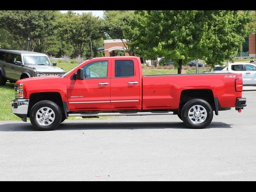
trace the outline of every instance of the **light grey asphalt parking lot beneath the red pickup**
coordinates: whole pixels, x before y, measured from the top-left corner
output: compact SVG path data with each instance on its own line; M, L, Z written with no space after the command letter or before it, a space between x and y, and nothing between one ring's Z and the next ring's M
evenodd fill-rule
M256 180L256 91L205 129L176 116L0 122L0 180Z

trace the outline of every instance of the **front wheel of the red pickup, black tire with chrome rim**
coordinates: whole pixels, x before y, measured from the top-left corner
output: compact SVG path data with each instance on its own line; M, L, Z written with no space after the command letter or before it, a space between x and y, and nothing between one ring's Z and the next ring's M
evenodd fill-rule
M43 108L42 110L40 110ZM49 109L49 111L47 111ZM52 112L52 111L53 112ZM50 122L49 118L48 120L44 119L42 120L41 124L37 118L40 118L40 115L37 115L38 113L41 113L43 111L49 112L49 115L52 115L52 121ZM45 113L46 113L45 112ZM46 114L45 114L46 115ZM47 118L47 115L44 116ZM49 101L49 100L43 100L40 101L31 108L30 111L30 122L36 128L37 130L40 131L50 131L56 129L60 125L60 121L62 120L62 113L60 106L58 106L56 103ZM44 124L44 125L42 125ZM47 125L49 124L49 125Z

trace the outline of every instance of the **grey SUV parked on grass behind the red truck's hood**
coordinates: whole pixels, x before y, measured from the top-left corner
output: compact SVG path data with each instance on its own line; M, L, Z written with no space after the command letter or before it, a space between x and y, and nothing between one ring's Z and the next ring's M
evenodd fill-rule
M46 54L19 51L0 50L0 85L5 85L6 81L12 83L19 79L35 76L53 76L64 74L62 68L55 67Z

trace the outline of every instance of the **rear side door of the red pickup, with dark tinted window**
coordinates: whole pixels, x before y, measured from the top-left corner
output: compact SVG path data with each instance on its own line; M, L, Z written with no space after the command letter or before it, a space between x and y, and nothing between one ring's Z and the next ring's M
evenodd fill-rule
M141 109L141 74L135 58L112 60L110 101L112 109Z

